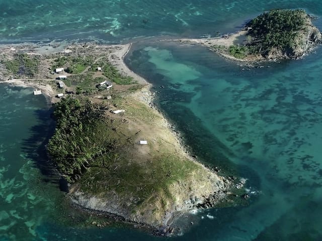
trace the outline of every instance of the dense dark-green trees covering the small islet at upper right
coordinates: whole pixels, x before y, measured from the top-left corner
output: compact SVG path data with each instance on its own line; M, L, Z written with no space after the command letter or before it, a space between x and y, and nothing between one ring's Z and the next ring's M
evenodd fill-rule
M271 10L261 14L246 25L251 28L248 35L255 39L252 45L264 54L274 47L283 51L293 48L298 31L305 27L306 16L304 10Z

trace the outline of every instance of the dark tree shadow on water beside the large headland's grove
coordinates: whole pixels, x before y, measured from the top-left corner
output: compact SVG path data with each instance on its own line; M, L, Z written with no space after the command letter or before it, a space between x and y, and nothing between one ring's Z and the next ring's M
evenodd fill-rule
M59 184L61 191L68 191L67 182L60 176L55 165L50 161L46 146L55 131L55 121L52 118L53 108L37 109L34 115L38 125L30 129L30 137L23 140L22 150L27 158L34 161L43 174L43 181Z

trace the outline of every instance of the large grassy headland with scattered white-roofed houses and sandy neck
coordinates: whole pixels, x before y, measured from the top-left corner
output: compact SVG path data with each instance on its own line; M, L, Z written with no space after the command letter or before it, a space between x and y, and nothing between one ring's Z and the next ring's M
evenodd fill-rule
M155 108L151 86L124 64L129 48L3 46L0 79L33 86L53 102L48 156L74 205L168 236L186 211L231 205L245 191L243 182L219 176L183 148Z

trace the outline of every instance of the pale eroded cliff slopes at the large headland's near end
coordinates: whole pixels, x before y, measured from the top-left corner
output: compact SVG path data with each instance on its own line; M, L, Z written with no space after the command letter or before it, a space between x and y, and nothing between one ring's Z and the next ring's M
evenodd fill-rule
M196 177L198 178L195 179ZM151 197L155 199L154 203L136 206L133 205L136 200L130 194L121 197L117 193L109 192L96 196L82 192L77 184L71 186L69 196L75 204L82 207L111 213L126 221L159 229L171 226L178 216L177 212L214 207L226 197L225 193L231 184L232 180L217 176L216 173L202 166L200 173L192 175L191 179L178 181L169 186L169 192L173 198L163 204L167 207L161 215L155 210L159 205L157 192L154 197Z

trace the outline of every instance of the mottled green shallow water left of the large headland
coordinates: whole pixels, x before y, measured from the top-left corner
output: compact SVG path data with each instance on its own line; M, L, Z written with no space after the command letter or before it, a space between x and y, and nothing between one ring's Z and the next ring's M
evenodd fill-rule
M49 126L45 98L33 96L32 89L1 84L0 101L0 237L15 240L35 235L54 202L50 193L59 192L46 185L36 162L42 161L37 148ZM43 133L36 125L44 127Z

